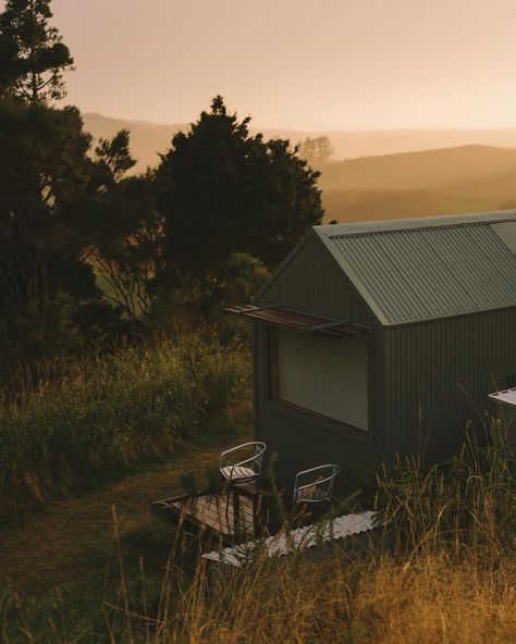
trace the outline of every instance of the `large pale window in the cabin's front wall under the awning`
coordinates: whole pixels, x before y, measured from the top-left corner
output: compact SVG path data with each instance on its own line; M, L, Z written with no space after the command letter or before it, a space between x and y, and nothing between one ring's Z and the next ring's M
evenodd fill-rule
M332 339L270 329L269 375L273 400L368 430L366 335Z

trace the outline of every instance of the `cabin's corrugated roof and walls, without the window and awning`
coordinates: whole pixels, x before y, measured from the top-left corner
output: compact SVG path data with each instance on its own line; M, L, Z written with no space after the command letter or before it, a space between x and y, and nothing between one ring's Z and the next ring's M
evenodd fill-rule
M257 435L280 453L283 484L322 462L421 450L441 461L460 448L468 420L481 430L488 394L516 385L516 256L493 227L515 219L318 226L282 264L258 302L351 317L370 327L373 347L365 434L269 399L267 327L256 324Z

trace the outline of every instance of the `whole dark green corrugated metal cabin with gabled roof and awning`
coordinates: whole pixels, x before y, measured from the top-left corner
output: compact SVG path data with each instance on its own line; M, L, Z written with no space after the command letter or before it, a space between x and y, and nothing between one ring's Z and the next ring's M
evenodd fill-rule
M280 478L455 455L516 385L516 211L315 226L250 305Z

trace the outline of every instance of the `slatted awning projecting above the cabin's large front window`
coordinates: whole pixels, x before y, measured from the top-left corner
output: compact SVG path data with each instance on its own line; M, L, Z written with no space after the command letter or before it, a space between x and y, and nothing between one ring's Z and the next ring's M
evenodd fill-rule
M352 335L349 320L335 320L333 318L320 318L306 313L298 313L281 309L279 307L255 307L246 305L242 307L225 308L226 313L247 318L256 322L265 322L271 326L292 329L302 333L320 333L330 337Z

